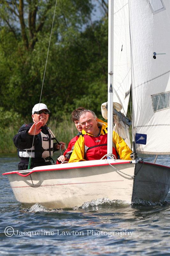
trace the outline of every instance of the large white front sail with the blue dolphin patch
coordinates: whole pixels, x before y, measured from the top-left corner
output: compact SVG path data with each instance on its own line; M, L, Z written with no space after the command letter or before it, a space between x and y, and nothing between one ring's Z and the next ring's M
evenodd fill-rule
M170 154L170 1L129 0L136 151Z

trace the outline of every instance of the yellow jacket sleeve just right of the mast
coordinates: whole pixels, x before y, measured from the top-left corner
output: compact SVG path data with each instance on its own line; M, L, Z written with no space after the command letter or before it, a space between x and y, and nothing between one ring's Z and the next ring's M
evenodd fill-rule
M117 153L122 160L132 160L130 158L130 154L132 150L128 147L126 142L116 133L113 131L113 143L116 146Z

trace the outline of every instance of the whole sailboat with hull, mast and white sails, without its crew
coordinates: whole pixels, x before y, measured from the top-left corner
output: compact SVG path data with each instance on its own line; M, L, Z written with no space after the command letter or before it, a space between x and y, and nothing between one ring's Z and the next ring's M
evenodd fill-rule
M168 194L170 167L138 160L136 154L170 154L170 2L109 0L108 31L108 159L3 173L26 207L74 207L103 197L154 203ZM113 102L121 106L117 116L125 117L130 87L134 157L115 160Z

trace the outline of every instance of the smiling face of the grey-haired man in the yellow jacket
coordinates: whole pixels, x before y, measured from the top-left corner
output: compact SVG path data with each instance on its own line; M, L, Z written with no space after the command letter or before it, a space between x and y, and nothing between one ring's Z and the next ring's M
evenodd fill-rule
M99 135L99 127L97 126L97 117L94 118L93 114L86 112L84 115L80 116L80 123L83 130L93 136Z

